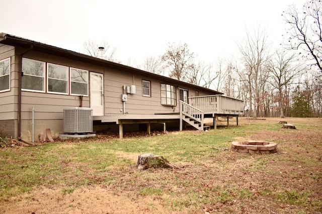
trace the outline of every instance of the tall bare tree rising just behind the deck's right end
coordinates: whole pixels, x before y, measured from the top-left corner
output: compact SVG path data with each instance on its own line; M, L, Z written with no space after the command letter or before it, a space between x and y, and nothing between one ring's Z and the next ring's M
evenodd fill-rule
M266 31L260 27L257 30L254 29L253 34L247 31L246 40L238 47L244 65L244 69L239 70L239 77L241 81L247 83L250 113L253 117L258 117L262 102L261 92L267 84L267 62L270 57Z

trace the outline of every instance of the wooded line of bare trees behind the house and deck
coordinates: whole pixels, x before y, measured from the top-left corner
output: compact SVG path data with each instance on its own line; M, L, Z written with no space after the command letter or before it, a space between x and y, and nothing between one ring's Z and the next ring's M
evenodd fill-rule
M277 50L258 26L247 29L229 59L196 61L188 44L169 43L163 55L147 57L136 67L242 99L252 117L321 117L321 6L319 0L300 9L289 6L282 14L288 32Z

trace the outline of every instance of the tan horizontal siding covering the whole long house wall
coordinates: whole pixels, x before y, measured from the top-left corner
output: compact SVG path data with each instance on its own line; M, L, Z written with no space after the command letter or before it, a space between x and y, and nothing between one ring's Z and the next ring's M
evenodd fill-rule
M11 90L0 93L0 119L15 120L11 126L17 126L18 118L18 79L19 79L19 55L26 49L14 48L8 45L0 45L0 59L11 57ZM16 54L16 55L15 55ZM128 114L168 114L179 112L179 87L178 83L172 83L171 79L166 82L159 80L157 76L144 76L127 71L111 69L99 65L93 65L83 61L71 60L57 55L39 53L31 50L24 54L24 58L34 59L42 62L68 66L89 71L88 91L89 95L83 97L83 107L90 107L90 73L103 74L104 78L104 115L122 114L123 102L121 95L123 85L135 85L136 93L128 94L125 102L125 112ZM150 81L151 96L142 96L142 80ZM45 78L47 84L47 78ZM133 82L134 81L134 82ZM68 81L69 82L69 81ZM167 83L176 87L177 106L166 106L161 104L160 83ZM69 82L70 84L70 82ZM47 87L45 87L47 91ZM186 88L186 87L183 87ZM195 88L186 88L189 95L195 94ZM200 95L209 95L198 89ZM53 136L62 132L63 109L78 107L81 102L80 96L55 94L47 92L22 91L22 139L30 141L32 132L32 107L34 106L35 140L39 134L45 134L46 129L51 129ZM16 127L17 129L17 127ZM17 132L17 131L15 131ZM17 133L15 133L17 137Z

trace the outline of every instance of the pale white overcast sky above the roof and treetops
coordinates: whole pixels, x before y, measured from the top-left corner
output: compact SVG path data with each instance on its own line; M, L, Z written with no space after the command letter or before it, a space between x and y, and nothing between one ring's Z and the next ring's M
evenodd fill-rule
M105 39L123 64L142 64L185 42L198 60L213 62L237 51L246 29L265 27L282 41L282 12L305 0L0 0L0 32L81 52Z

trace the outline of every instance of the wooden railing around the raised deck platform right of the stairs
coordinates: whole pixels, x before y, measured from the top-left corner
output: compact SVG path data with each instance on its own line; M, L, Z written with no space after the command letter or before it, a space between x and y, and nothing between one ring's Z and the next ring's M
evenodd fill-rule
M223 95L191 96L189 104L207 113L244 115L244 101Z

